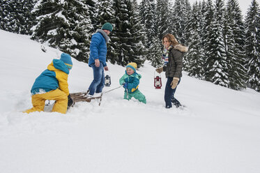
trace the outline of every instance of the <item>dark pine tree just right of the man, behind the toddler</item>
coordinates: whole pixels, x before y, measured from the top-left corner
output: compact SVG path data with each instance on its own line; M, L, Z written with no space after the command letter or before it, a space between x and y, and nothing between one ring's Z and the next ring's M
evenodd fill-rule
M114 62L126 66L133 61L137 63L137 66L142 66L144 63L143 33L139 25L140 20L132 6L133 3L130 0L116 0L115 2L116 22L112 43L117 56Z

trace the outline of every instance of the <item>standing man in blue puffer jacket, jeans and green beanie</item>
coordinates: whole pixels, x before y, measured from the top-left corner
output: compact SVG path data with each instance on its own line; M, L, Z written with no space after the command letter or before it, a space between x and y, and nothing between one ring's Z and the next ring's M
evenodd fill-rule
M109 40L108 35L112 30L112 24L107 22L91 38L89 66L93 69L94 79L89 86L87 98L93 97L94 93L101 93L105 85L104 70L108 70L106 63L107 42Z

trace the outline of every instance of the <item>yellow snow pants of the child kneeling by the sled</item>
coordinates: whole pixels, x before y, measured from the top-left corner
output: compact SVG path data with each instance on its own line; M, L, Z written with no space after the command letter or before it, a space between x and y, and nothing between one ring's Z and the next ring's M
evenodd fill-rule
M31 96L31 103L33 103L33 108L24 111L24 113L30 112L41 112L45 107L45 100L56 100L52 108L52 112L60 112L66 114L68 106L68 96L66 93L60 89L55 89L47 93L34 94Z

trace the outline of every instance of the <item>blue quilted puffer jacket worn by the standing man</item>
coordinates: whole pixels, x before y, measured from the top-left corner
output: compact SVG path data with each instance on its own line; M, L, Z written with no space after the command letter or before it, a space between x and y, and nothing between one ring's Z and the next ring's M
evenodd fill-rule
M106 57L108 39L109 38L107 36L107 33L102 31L101 29L98 29L97 32L93 34L90 45L91 54L89 57L89 66L92 63L95 63L95 59L99 59L104 67L107 66Z

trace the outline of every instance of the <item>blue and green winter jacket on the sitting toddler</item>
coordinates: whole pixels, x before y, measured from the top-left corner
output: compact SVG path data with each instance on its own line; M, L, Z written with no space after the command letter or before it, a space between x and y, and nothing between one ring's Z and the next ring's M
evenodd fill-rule
M119 84L123 84L125 82L128 83L128 93L134 93L137 91L139 87L139 80L141 79L142 75L138 73L133 73L132 75L128 75L125 70L125 74L119 79Z

